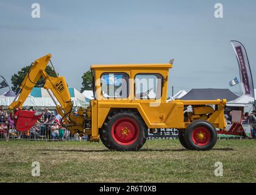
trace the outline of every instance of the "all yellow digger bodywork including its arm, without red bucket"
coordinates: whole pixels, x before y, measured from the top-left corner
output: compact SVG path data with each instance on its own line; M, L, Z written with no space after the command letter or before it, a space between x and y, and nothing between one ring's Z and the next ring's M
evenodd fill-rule
M99 130L112 109L137 110L149 129L176 128L185 129L196 119L205 119L216 128L226 127L224 119L224 106L226 99L211 101L181 101L167 102L168 73L172 68L171 63L164 64L133 64L133 65L91 65L94 74L94 99L90 101L89 108L80 108L78 116L73 115L73 104L69 95L64 77L49 76L45 69L51 59L51 54L35 60L29 73L21 84L21 93L17 101L14 101L9 109L21 108L35 83L42 76L45 80L44 88L50 90L59 104L57 110L62 115L71 133L90 135L91 141L99 141ZM102 96L101 76L104 73L126 73L129 76L129 94L127 98L104 98ZM135 96L134 78L137 74L157 73L162 76L162 96L159 99L137 99ZM185 108L191 105L193 112L187 112ZM215 108L209 105L215 105ZM91 127L85 127L84 120L89 118Z

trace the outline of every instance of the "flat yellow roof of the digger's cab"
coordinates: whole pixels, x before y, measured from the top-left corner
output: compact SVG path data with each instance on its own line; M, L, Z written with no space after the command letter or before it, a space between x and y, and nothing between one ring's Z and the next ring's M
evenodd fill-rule
M91 69L110 68L172 68L171 63L121 64L121 65L91 65Z

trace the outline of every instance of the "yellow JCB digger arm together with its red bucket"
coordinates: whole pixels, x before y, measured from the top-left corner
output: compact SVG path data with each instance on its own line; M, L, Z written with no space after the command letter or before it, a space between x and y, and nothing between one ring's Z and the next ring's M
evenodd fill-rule
M27 96L29 96L30 91L35 87L40 77L43 77L44 89L48 91L56 105L57 111L62 116L63 126L71 130L71 133L79 132L90 135L90 124L88 124L90 123L90 119L87 118L87 116L90 117L90 109L84 110L83 108L79 108L78 115L74 115L73 102L71 101L65 77L58 76L57 73L56 77L52 77L46 73L46 66L48 66L50 59L51 54L48 54L32 63L29 73L27 73L26 77L21 83L19 93L9 106L9 110L14 109L16 129L29 130L37 119L40 118L41 115L36 116L34 115L35 112L32 113L21 109ZM87 128L85 128L85 126L87 126Z

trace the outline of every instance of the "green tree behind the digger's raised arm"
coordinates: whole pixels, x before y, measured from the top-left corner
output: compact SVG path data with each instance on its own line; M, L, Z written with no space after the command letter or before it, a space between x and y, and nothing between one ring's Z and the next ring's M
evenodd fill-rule
M18 91L20 90L20 85L23 82L24 78L26 77L26 74L29 73L29 68L30 66L24 66L23 68L21 68L20 71L18 71L18 73L13 74L11 80L12 80L12 90L15 93L18 93ZM46 73L49 74L49 76L53 76L55 77L56 74L54 72L54 70L51 68L51 66L46 66ZM44 82L43 82L43 77L41 77L38 81L37 84L35 85L35 87L43 87Z

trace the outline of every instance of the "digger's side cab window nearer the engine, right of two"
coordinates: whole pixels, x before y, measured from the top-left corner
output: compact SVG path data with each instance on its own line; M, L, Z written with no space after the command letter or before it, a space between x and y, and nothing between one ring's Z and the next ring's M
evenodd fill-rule
M135 76L135 97L137 99L159 99L162 96L161 74L137 74Z

